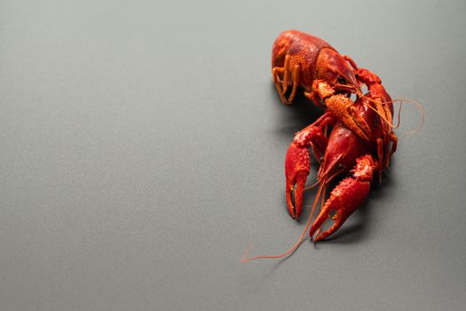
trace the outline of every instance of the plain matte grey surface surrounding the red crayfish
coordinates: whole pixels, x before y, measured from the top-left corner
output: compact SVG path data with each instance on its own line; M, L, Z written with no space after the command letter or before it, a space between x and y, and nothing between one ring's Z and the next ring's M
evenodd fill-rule
M0 309L461 309L465 13L464 1L1 1ZM426 121L404 134L419 122L404 108L383 185L334 239L241 264L249 242L275 254L304 227L285 208L283 162L318 110L273 88L271 45L288 28L420 101Z

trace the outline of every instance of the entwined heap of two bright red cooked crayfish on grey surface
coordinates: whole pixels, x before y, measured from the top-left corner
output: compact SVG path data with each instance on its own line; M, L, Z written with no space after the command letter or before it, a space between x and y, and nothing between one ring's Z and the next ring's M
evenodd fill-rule
M272 46L272 77L284 104L292 103L296 92L304 92L307 99L325 109L314 123L296 133L288 148L285 192L293 219L299 219L303 211L312 154L320 164L314 184L319 187L304 232L288 251L277 256L243 257L243 262L287 256L303 242L309 228L314 242L335 233L366 200L374 176L380 182L398 144L392 124L394 100L381 79L358 68L324 40L297 30L282 32ZM361 91L364 88L366 93ZM330 183L342 176L325 201ZM320 197L320 213L312 222ZM327 220L333 224L320 232Z

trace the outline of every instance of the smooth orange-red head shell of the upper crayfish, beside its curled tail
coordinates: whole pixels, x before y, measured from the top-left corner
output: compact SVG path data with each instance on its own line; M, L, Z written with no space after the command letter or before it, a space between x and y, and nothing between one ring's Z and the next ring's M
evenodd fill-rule
M336 92L360 93L356 70L344 60L340 53L323 48L316 61L316 79L332 85Z

